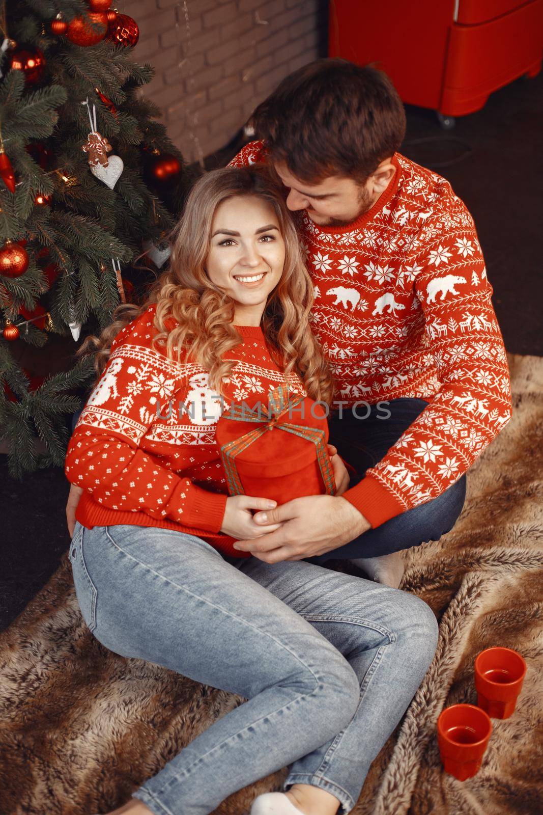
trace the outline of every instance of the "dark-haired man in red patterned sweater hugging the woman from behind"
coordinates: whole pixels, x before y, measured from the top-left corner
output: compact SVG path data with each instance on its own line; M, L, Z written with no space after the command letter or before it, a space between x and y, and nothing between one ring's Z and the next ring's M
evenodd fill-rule
M343 496L256 513L282 526L238 548L265 562L370 558L366 571L376 564L375 579L397 585L379 556L452 528L466 470L510 419L475 226L444 178L397 152L404 108L374 68L306 65L252 126L258 140L231 165L265 161L286 187L335 374L330 440L357 478Z

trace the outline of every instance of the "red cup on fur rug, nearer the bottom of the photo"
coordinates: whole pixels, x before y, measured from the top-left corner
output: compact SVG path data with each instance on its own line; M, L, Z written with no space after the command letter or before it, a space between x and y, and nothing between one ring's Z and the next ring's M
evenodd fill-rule
M445 707L437 720L437 743L445 773L466 781L480 769L492 722L475 705Z

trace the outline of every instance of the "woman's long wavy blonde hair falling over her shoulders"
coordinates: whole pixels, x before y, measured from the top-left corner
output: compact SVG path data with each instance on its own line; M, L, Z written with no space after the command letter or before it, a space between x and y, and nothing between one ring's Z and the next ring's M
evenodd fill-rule
M312 399L331 404L331 372L309 325L313 283L282 192L264 165L226 167L199 178L186 200L181 220L170 233L168 270L160 275L141 306L117 306L112 324L99 337L86 337L77 353L95 354L94 368L100 377L117 333L156 303L154 325L158 333L153 342L165 346L170 359L190 356L208 372L210 385L221 392L221 381L229 377L236 364L222 357L243 340L234 328L233 299L212 283L204 264L217 206L234 196L258 196L268 201L285 244L282 276L269 293L261 319L270 355L285 377L291 372L298 374Z

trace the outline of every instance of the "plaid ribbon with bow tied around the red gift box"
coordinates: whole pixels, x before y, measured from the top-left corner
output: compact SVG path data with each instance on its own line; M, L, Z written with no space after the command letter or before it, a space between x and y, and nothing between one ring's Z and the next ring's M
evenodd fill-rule
M234 404L230 408L230 412L223 414L226 419L233 421L252 421L255 424L261 425L255 430L249 430L248 433L234 438L233 441L227 442L221 446L221 459L226 472L226 479L228 481L228 490L231 496L243 495L243 487L238 474L238 468L235 464L236 456L246 450L249 445L256 442L257 438L261 438L268 430L284 430L286 433L291 433L300 438L305 438L309 442L313 442L317 448L317 464L321 471L322 481L326 487L326 493L329 496L335 495L335 477L332 465L330 463L330 456L325 441L325 432L322 427L307 427L306 425L293 425L291 422L281 422L278 420L287 411L290 411L296 405L304 401L304 396L300 396L294 401L289 401L289 389L287 385L280 385L274 388L268 394L268 405L262 405L256 408L247 407L247 405ZM264 416L264 418L263 418Z

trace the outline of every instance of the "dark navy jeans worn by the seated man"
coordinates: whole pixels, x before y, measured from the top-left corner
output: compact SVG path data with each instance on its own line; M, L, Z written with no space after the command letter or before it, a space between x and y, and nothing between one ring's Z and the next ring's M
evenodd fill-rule
M427 406L427 402L423 399L392 399L391 402L383 403L383 406L391 412L389 418L379 418L384 415L384 407L379 409L375 405L371 406L366 419L357 419L349 409L344 410L341 419L337 414L331 414L329 442L335 444L339 455L357 470L357 478L351 478L351 487L361 481L366 469L378 464L386 456L401 434ZM366 412L361 407L359 415L364 416ZM465 498L466 476L463 475L437 498L396 515L396 518L364 532L344 546L308 560L322 564L330 558L351 560L357 557L378 557L418 546L427 540L439 540L457 522Z

